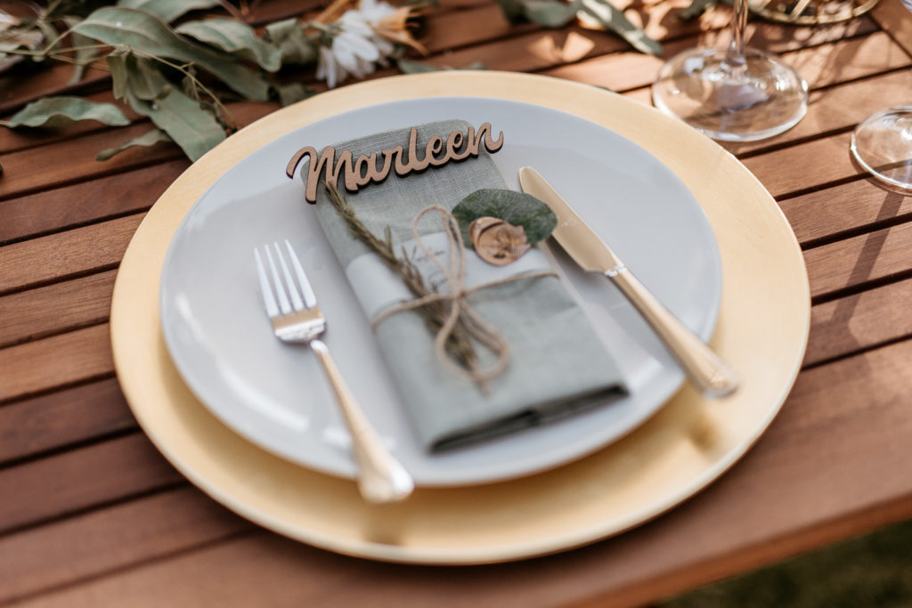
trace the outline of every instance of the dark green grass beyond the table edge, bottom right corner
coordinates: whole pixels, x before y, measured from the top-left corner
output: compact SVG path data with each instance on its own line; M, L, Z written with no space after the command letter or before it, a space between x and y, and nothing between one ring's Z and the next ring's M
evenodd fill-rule
M907 608L912 520L658 603L660 608Z

